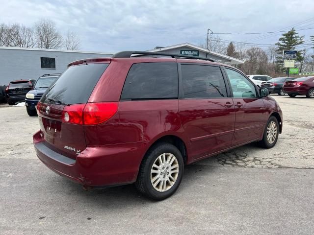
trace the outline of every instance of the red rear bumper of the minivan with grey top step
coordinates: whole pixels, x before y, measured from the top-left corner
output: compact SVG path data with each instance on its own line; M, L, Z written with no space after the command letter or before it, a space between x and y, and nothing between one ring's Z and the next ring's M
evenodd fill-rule
M136 181L145 143L87 146L76 159L45 145L41 131L33 135L37 157L55 173L90 187L130 184Z

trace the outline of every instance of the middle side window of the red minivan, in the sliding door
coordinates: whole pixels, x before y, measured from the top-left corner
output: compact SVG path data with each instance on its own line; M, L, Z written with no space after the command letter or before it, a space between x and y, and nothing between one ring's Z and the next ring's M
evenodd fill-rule
M181 65L184 98L227 97L226 85L219 67Z

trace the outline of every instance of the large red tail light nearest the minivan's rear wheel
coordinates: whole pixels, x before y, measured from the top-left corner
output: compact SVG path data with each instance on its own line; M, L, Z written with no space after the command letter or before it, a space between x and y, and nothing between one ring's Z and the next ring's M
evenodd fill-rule
M97 125L110 119L117 110L117 102L73 104L64 107L62 122L79 125Z

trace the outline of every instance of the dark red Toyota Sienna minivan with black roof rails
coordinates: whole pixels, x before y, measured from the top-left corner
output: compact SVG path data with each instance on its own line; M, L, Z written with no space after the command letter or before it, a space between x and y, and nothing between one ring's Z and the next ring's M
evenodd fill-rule
M271 148L283 125L241 71L140 51L69 64L37 113L36 154L54 172L92 188L135 182L155 200L177 190L184 164L253 141Z

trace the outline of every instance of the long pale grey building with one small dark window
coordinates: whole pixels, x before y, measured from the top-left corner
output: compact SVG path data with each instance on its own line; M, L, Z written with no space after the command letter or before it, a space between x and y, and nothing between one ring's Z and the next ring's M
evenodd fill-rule
M0 47L0 85L20 79L37 79L43 74L62 73L75 60L110 57L111 53Z

